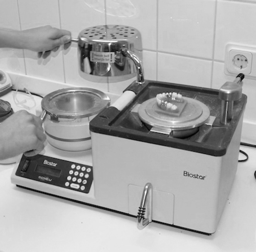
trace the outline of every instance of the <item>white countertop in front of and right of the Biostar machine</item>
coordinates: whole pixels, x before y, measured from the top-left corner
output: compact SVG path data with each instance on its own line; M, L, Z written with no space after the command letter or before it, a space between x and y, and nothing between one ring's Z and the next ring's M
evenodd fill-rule
M133 217L18 188L14 165L0 165L0 252L256 251L256 149L240 149L249 160L210 236L157 223L138 230Z

